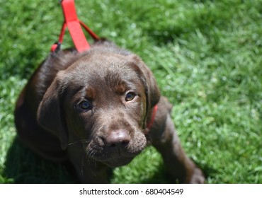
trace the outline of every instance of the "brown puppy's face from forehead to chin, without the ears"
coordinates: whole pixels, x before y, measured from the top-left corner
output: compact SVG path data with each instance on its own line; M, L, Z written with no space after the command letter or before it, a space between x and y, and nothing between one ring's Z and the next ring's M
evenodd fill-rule
M147 143L146 94L137 69L122 57L93 54L62 74L69 134L84 140L91 158L111 166L130 162Z

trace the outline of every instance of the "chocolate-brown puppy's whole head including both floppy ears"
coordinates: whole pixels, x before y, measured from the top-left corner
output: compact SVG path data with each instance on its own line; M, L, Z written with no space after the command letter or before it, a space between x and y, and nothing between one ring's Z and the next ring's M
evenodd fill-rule
M147 144L147 112L159 89L135 55L91 52L59 71L38 108L38 121L66 149L81 141L90 158L129 163Z

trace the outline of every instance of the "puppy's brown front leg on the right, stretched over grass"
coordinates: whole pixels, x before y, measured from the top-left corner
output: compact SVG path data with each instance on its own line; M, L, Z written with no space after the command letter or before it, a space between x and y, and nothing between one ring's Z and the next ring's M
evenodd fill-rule
M163 116L161 117L163 119ZM171 176L172 180L180 183L205 182L202 171L183 151L169 112L167 112L167 116L164 117L166 117L166 120L158 127L162 132L159 133L160 131L158 130L158 133L155 133L156 136L152 136L152 143L161 153L168 175Z

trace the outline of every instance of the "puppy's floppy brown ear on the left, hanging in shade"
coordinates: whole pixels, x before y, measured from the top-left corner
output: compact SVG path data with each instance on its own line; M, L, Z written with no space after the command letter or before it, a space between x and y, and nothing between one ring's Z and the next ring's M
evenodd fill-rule
M56 77L38 107L38 123L59 138L64 150L67 148L68 136L62 110L63 92L59 78Z

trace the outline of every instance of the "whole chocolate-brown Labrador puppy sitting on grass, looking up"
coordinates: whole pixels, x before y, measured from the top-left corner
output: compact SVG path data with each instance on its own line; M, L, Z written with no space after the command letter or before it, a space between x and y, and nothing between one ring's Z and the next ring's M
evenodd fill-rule
M51 52L21 92L15 122L26 146L50 161L69 160L81 182L108 182L108 168L152 144L174 182L203 183L170 111L139 57L99 41L87 52Z

